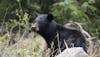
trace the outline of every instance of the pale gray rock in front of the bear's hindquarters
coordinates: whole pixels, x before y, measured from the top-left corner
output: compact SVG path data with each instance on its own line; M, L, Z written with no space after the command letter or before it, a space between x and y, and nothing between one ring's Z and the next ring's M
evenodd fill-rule
M55 57L89 57L81 47L67 48Z

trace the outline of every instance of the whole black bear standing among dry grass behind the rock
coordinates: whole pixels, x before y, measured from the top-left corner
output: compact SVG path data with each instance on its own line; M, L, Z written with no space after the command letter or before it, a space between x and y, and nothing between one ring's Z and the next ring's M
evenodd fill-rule
M65 43L68 47L83 47L87 50L86 40L80 31L67 29L63 25L58 24L54 21L52 14L39 14L34 20L34 26L32 30L43 36L50 48L54 43L54 53L63 51L66 48Z

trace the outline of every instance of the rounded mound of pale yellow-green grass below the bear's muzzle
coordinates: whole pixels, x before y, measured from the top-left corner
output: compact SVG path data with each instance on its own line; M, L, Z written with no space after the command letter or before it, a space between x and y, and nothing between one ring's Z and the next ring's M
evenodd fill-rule
M43 38L37 36L35 38L20 39L10 47L2 44L0 45L3 48L0 51L0 57L39 57L39 54L44 50L44 43Z

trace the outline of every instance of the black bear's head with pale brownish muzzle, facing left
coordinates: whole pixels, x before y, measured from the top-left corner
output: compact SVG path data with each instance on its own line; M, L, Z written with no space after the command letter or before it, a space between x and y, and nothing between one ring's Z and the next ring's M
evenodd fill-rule
M46 27L52 22L53 15L52 14L39 14L34 19L34 25L32 26L32 30L38 32L46 29Z

